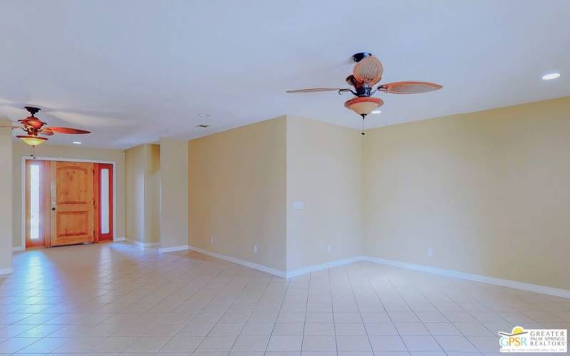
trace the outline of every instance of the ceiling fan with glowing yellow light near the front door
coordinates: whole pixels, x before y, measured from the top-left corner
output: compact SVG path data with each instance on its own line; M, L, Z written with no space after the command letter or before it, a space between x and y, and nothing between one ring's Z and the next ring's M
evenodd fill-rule
M38 117L35 116L36 113L38 113L38 111L41 110L40 108L26 106L25 109L28 110L30 116L18 120L19 125L12 126L12 130L14 129L24 130L27 135L18 135L16 137L26 142L26 144L30 146L41 145L43 142L46 142L48 140L47 137L42 137L39 135L52 136L54 133L80 135L80 134L91 133L86 130L73 129L71 127L45 126L47 125L46 122L41 121L40 119L38 119Z

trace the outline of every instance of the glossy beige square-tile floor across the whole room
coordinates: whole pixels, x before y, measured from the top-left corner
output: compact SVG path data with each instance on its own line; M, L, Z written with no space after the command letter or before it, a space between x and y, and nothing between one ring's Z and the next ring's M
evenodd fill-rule
M570 329L570 300L364 262L285 280L125 243L16 253L0 278L0 354L498 355L514 324Z

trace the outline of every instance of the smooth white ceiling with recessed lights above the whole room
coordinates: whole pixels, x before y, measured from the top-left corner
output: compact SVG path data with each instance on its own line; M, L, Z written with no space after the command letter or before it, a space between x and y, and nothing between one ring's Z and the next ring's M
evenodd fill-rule
M285 90L346 86L361 51L384 82L444 86L380 95L368 127L558 98L569 15L567 0L1 1L0 116L38 105L49 125L93 131L50 143L116 148L283 114L359 127L349 95ZM551 71L561 78L541 80Z

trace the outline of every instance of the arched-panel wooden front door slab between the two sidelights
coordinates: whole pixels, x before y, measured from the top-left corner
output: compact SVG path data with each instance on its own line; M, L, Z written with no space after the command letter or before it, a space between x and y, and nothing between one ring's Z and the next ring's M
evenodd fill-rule
M51 246L93 242L93 163L51 162Z

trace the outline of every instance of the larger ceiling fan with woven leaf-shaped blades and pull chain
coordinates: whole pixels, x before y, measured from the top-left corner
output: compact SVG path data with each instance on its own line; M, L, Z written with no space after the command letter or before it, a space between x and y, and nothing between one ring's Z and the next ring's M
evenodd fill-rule
M354 90L349 88L311 88L287 90L287 93L316 93L321 91L338 91L338 94L353 93L355 98L347 100L344 106L362 116L362 135L364 135L366 115L384 104L382 99L372 96L374 93L379 91L389 94L418 94L442 88L442 85L439 84L420 81L386 83L374 88L374 85L382 79L382 62L368 52L356 53L352 59L356 65L353 68L353 73L346 77L346 83L352 85Z

